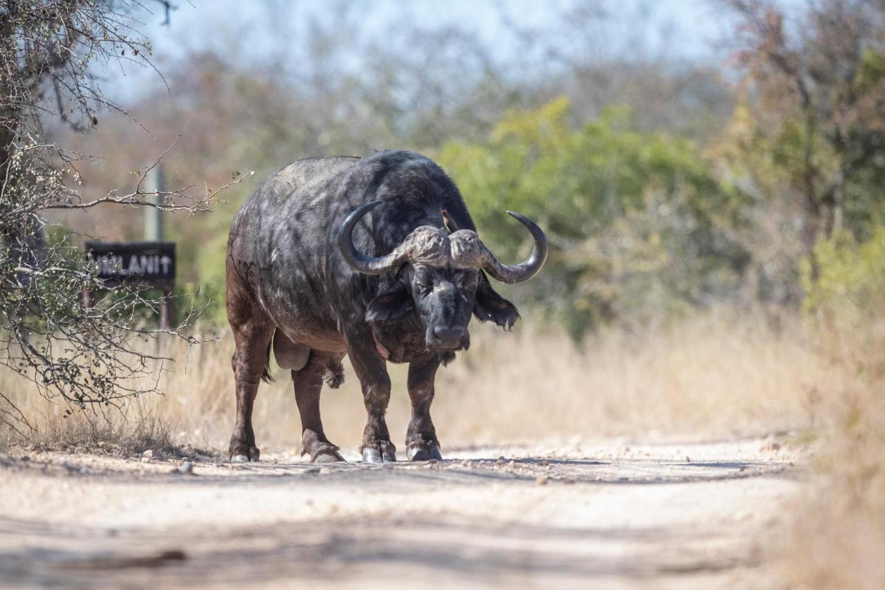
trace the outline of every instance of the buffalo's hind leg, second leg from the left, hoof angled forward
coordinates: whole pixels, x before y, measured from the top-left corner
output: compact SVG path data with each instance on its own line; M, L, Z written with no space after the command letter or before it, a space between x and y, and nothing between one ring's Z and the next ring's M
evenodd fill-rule
M323 388L323 376L334 356L312 350L304 368L292 371L295 401L301 415L301 454L310 454L312 463L344 461L341 454L338 454L338 447L326 438L322 420L319 418L319 393Z

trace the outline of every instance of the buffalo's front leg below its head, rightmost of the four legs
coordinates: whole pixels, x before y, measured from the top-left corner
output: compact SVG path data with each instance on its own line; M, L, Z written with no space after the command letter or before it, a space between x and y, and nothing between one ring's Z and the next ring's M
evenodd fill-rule
M405 434L405 456L410 461L442 461L436 429L430 419L430 404L434 401L434 380L440 366L435 354L427 359L409 363L409 399L412 400L412 419Z

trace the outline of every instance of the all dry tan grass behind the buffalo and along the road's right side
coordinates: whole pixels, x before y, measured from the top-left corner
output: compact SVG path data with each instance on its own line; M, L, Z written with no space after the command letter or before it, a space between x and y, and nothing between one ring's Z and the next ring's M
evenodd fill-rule
M437 379L443 446L803 431L820 451L775 547L783 578L794 587L885 587L885 319L806 330L796 317L720 311L642 335L612 330L580 348L539 322L512 334L488 325L472 332L471 350ZM190 446L223 455L234 422L232 346L225 336L172 351L178 361L161 377L167 395L131 404L126 419L65 419L64 407L8 373L0 373L0 391L12 392L37 427L35 446L122 453ZM277 381L258 393L258 445L294 452L300 424L291 383L275 372ZM388 423L401 442L405 368L391 373ZM357 446L366 415L350 370L322 405L329 437ZM17 439L0 431L4 440Z

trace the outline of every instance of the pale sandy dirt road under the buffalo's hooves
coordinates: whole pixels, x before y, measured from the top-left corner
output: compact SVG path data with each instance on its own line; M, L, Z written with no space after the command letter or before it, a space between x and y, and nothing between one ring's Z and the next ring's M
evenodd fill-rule
M191 475L0 454L0 586L779 587L764 557L798 459L770 439L270 454Z

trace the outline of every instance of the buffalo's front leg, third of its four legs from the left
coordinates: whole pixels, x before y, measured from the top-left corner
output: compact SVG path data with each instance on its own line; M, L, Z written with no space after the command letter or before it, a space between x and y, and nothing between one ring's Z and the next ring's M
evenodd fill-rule
M368 342L373 342L368 335ZM390 432L384 421L390 401L390 377L384 359L372 350L351 348L348 354L353 370L363 388L363 401L366 404L366 430L363 431L363 444L360 451L363 462L381 463L396 461L396 446L390 441Z

